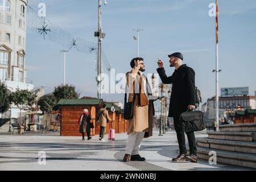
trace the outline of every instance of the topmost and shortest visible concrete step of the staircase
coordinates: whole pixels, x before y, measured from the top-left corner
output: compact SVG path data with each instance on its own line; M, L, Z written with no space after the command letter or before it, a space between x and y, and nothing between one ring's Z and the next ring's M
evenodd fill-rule
M256 132L256 123L240 123L234 125L221 125L220 131L251 131Z

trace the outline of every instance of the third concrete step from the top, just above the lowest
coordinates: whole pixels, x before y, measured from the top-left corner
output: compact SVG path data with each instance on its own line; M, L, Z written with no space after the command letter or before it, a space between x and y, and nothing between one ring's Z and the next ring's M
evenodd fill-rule
M256 154L256 142L197 138L196 143L199 147Z

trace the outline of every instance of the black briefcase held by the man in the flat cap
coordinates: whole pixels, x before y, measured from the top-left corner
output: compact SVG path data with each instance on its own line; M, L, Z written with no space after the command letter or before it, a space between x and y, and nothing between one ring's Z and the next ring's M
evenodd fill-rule
M182 129L184 132L205 130L204 112L203 111L187 111L180 114Z

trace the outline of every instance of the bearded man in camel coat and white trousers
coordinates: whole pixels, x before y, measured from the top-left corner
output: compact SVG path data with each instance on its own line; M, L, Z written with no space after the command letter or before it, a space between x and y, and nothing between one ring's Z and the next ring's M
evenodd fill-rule
M133 101L133 118L127 121L127 144L123 162L144 161L139 155L141 142L143 138L152 136L152 119L154 113L154 104L150 85L146 75L144 75L145 64L141 57L131 60L131 71L126 73L127 88L129 89L128 102Z

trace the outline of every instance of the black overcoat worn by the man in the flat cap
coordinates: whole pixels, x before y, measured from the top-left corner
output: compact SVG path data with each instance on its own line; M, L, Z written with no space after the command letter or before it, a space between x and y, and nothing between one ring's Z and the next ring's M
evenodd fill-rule
M188 105L196 105L195 71L192 68L183 64L170 77L166 76L164 68L157 71L163 84L172 84L169 117L179 117L188 110Z

